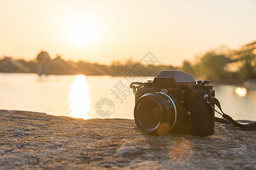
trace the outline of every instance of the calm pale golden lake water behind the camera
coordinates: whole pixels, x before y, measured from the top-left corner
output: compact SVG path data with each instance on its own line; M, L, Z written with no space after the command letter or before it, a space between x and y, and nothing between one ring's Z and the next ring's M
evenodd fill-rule
M124 77L0 73L0 109L84 119L133 119L134 95L128 86ZM226 114L234 120L256 120L255 89L213 86Z

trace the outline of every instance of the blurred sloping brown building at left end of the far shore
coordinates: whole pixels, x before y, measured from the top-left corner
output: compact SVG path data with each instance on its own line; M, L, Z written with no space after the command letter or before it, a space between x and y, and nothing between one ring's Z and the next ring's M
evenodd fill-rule
M21 62L15 61L11 57L0 60L0 72L2 73L30 73L30 69Z

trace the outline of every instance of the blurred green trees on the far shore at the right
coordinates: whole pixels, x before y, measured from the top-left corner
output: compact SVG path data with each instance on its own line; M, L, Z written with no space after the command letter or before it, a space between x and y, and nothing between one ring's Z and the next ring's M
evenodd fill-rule
M251 57L253 56L253 57ZM232 64L230 66L230 64ZM233 71L232 69L236 69ZM209 79L216 82L241 82L245 79L256 79L255 54L243 55L232 59L226 57L217 50L210 50L200 57L196 62L183 61L180 70L196 76L200 79ZM232 70L232 71L230 71Z

